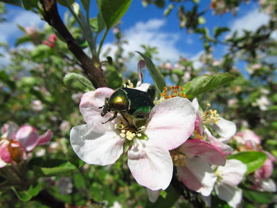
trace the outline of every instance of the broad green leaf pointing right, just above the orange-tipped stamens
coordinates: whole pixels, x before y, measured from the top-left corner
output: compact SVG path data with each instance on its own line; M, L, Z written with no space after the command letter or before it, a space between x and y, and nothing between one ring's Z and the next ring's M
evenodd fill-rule
M233 80L235 80L235 76L232 76L229 73L217 73L215 75L205 74L186 83L184 89L188 89L186 91L186 96L188 98L193 98L198 94L208 92L211 89L215 89L216 87L229 83ZM188 88L187 85L190 85L190 87Z

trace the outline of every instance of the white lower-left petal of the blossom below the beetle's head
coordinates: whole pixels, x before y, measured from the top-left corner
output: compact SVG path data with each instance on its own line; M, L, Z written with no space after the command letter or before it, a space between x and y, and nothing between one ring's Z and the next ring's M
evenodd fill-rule
M98 120L71 129L70 142L84 162L105 166L113 164L123 153L124 139L114 129L114 123Z

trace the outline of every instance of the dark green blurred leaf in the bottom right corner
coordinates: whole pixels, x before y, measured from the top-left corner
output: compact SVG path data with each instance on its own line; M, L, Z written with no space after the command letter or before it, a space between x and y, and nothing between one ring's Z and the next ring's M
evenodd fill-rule
M245 198L248 198L251 202L257 202L260 204L269 204L274 199L274 194L268 191L256 191L246 187L242 187L242 193Z

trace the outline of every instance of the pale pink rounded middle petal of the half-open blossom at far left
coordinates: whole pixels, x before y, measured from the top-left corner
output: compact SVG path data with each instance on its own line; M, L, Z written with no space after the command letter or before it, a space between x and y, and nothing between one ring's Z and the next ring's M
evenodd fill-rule
M39 133L31 125L22 125L19 130L17 130L15 138L20 142L24 149L29 152L37 146Z

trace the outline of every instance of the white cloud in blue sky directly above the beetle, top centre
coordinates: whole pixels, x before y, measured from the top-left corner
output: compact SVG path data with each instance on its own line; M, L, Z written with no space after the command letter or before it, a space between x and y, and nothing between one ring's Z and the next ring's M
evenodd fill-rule
M123 45L125 55L129 52L144 51L141 45L149 45L151 47L156 46L159 57L164 62L170 60L170 62L176 62L179 60L179 56L186 56L188 54L184 51L177 49L176 44L180 40L179 33L172 33L163 30L163 26L166 24L166 19L150 19L146 22L139 21L131 28L123 31L124 39L128 44ZM111 49L111 55L116 50L116 47L111 43L107 43L103 46L102 51L106 51L107 48ZM132 60L127 64L129 69L136 69L137 60Z

